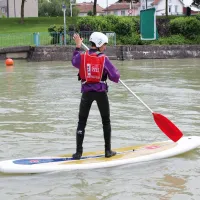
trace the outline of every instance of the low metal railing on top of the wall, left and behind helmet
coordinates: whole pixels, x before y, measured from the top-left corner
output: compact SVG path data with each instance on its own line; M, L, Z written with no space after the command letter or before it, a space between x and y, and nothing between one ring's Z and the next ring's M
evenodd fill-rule
M80 32L85 44L89 44L89 37L92 32ZM109 38L110 46L116 45L116 34L114 32L103 32ZM74 32L66 33L66 44L75 45L73 40ZM64 34L57 32L40 32L40 33L10 33L0 34L0 48L14 46L47 46L47 45L64 45Z

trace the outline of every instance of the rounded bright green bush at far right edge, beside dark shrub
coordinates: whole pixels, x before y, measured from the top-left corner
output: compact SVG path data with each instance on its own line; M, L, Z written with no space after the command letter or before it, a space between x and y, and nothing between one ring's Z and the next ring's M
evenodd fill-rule
M170 21L173 35L181 34L189 39L200 34L200 21L195 17L179 17Z

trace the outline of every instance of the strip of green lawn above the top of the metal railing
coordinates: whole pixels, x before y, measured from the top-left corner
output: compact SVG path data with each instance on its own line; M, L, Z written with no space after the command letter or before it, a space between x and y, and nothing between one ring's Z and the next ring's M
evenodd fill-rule
M38 17L25 18L24 24L20 24L20 18L0 18L0 34L47 32L50 25L63 25L63 17ZM76 24L76 17L67 17L66 25Z

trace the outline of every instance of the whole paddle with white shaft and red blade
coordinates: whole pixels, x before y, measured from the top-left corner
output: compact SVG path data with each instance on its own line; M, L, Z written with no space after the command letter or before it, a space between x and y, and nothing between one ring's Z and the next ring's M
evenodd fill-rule
M85 49L89 49L84 43L82 43L83 47ZM153 115L154 121L156 122L157 126L160 128L160 130L165 133L172 141L177 142L182 136L183 133L178 129L178 127L173 124L167 117L153 112L145 104L128 86L125 85L125 83L119 79L119 82L131 93L133 94Z

